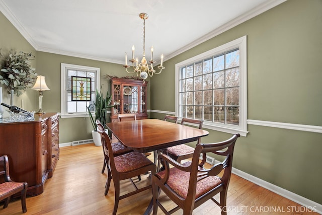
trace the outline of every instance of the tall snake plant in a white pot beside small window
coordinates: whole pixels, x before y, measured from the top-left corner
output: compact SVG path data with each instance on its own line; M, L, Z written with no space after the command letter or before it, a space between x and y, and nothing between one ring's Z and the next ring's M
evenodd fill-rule
M102 142L101 142L100 133L98 133L96 131L95 121L97 119L100 120L105 127L107 109L114 106L114 105L111 105L112 96L108 95L108 91L106 92L105 98L104 98L101 91L102 91L102 86L101 86L100 92L98 92L98 90L96 90L95 101L92 104L90 104L89 106L87 106L87 110L89 112L90 120L91 120L91 123L93 126L93 131L92 131L93 140L94 140L94 143L96 146L102 146ZM91 110L95 111L95 116L92 114Z

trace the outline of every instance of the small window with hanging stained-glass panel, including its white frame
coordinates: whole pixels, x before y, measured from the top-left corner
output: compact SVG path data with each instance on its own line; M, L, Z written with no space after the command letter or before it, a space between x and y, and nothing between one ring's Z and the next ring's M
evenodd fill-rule
M83 117L95 101L100 68L61 63L61 117Z

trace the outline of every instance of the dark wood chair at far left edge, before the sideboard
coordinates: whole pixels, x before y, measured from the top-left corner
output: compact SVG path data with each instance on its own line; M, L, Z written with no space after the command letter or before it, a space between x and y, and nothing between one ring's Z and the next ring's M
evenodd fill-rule
M4 208L8 207L11 196L20 192L22 211L24 213L27 212L26 194L28 184L27 182L15 182L11 180L9 174L9 160L7 155L0 157L0 176L0 201L6 199Z

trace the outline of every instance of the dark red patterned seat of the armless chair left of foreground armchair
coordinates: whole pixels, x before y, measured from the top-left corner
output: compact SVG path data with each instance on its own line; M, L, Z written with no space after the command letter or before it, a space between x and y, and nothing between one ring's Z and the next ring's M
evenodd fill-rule
M130 152L125 155L114 157L115 168L118 172L125 173L151 165L151 161L142 153Z

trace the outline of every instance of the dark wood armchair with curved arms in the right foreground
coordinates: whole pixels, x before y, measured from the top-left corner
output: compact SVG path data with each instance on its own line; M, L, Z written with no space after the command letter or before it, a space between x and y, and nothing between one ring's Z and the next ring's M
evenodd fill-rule
M171 214L182 208L184 215L190 215L196 207L209 199L220 206L222 215L226 214L225 207L233 150L239 136L239 134L233 134L222 142L198 144L192 161L184 164L178 163L166 154L160 155L165 170L152 176L153 214L156 214L157 208L160 207L166 214ZM200 162L199 156L202 153L205 158L205 153L210 152L223 157L223 161L205 169L206 159ZM169 164L173 165L173 168L170 169ZM178 206L167 211L158 199L160 190L164 191ZM217 193L220 193L220 202L213 198Z

